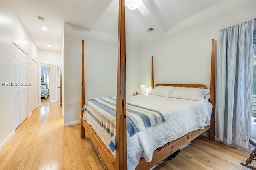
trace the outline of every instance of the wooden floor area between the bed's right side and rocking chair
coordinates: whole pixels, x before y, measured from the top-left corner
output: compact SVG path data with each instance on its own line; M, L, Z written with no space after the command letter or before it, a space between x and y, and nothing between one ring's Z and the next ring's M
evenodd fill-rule
M240 165L241 162L246 161L249 155L250 153L240 149L231 148L221 142L211 141L204 136L199 136L190 145L181 150L178 156L163 162L154 170L162 170L162 167L170 170L249 170ZM256 164L256 161L253 164Z

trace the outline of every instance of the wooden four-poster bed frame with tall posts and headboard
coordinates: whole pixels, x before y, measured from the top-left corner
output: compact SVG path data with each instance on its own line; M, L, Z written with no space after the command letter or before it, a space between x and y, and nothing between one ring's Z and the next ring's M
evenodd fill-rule
M85 137L85 131L87 132L94 148L104 165L109 170L124 170L127 169L127 139L126 139L126 47L125 47L125 5L124 0L119 1L119 20L118 20L118 76L117 76L117 101L116 101L116 156L108 150L100 137L96 134L93 128L83 120L83 111L81 111L81 138ZM153 56L151 59L152 74L151 85L154 88L154 69L153 69ZM158 148L154 151L153 159L151 162L146 162L144 158L140 159L136 169L150 169L156 164L165 160L172 153L179 150L182 146L188 142L194 140L200 134L206 130L210 130L210 140L215 139L215 104L214 104L214 92L215 92L215 76L214 76L214 39L212 39L212 60L211 60L211 83L210 83L210 103L213 105L210 125L204 129L198 129L193 132L178 138L168 144ZM205 85L196 84L156 84L168 85L176 87L197 87L206 88ZM82 103L81 107L85 104L85 89L84 89L84 41L82 41Z

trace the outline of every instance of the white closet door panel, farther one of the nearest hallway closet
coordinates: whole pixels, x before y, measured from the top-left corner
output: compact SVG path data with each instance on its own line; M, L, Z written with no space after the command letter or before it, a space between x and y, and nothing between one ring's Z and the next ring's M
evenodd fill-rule
M21 123L27 118L27 55L21 51Z

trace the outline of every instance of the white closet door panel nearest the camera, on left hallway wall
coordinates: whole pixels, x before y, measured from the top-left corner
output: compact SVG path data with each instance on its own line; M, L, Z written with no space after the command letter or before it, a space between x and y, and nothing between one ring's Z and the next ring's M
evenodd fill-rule
M13 48L13 69L14 69L14 129L21 124L21 89L20 89L20 49L14 45Z

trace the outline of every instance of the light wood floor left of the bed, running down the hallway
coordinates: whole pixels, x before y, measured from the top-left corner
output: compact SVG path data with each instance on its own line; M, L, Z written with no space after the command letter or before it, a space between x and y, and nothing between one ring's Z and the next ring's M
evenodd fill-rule
M104 169L80 124L63 127L61 107L38 107L1 150L0 169Z

